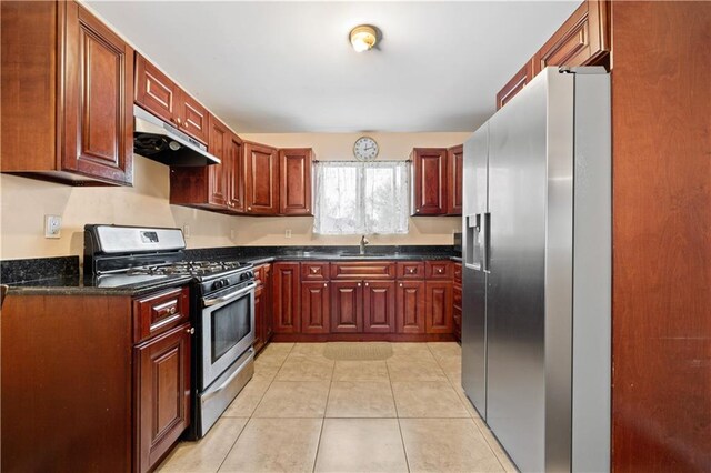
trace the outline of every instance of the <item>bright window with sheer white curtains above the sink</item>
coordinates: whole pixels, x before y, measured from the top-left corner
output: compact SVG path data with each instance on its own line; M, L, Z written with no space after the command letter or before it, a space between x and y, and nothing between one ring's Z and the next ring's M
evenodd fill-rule
M316 163L313 232L408 233L408 170L404 161Z

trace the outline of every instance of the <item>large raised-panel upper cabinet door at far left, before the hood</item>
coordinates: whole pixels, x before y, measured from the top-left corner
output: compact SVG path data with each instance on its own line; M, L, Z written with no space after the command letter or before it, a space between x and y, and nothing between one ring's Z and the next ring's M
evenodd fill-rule
M133 49L67 3L62 169L133 182Z

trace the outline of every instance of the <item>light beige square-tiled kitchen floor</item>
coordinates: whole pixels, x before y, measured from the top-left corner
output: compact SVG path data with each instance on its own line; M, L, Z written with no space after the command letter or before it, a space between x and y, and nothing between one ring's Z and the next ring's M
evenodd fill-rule
M393 343L387 361L332 361L271 343L208 435L163 472L515 472L460 385L457 343Z

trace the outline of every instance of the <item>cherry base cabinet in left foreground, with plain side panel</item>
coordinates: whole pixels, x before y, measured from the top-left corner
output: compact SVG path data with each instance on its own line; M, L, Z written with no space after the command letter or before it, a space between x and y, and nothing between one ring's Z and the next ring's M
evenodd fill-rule
M190 422L188 294L7 298L0 470L157 466Z

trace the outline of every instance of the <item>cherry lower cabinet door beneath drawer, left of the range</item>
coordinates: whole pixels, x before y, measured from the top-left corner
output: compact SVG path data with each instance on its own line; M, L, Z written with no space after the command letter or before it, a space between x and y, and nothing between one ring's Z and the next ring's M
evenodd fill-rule
M150 470L190 424L190 324L134 349L138 454Z

